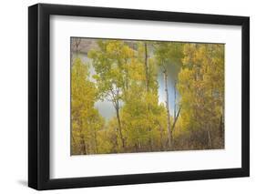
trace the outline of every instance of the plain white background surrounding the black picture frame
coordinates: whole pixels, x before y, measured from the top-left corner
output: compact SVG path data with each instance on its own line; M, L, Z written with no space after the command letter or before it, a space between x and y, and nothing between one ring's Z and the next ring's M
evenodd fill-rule
M254 1L224 0L41 0L41 3L113 6L177 12L251 16L251 178L215 179L45 193L253 193L256 190L256 12ZM9 0L0 6L0 193L36 193L27 179L27 6Z

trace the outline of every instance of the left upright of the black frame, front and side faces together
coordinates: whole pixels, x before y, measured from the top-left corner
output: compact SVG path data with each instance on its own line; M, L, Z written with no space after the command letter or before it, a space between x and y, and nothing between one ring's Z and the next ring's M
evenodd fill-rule
M48 17L41 4L28 7L28 187L37 190L46 189L49 181L49 66L46 65L49 33L46 33L46 21Z

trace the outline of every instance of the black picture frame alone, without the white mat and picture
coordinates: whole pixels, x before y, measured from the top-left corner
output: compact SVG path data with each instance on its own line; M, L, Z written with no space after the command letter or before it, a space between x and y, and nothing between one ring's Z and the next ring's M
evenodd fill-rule
M50 179L50 15L91 16L241 26L242 123L241 168L205 169L118 176ZM179 180L250 176L250 18L78 5L37 4L28 7L28 186L70 189Z

